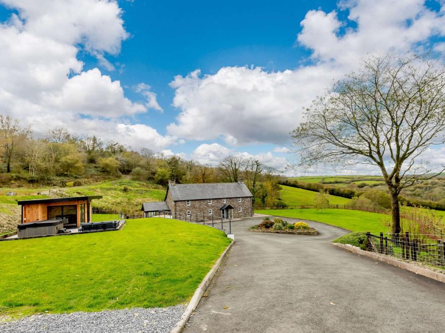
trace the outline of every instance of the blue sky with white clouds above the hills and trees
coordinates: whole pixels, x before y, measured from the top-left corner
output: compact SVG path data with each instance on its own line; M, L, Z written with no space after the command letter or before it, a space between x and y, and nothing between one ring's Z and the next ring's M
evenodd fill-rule
M285 170L304 107L369 54L441 55L444 13L443 0L0 0L0 113L35 136Z

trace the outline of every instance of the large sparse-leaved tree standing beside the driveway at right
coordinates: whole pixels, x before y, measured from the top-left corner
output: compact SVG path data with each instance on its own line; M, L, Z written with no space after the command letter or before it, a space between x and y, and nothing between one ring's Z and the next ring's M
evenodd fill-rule
M445 67L420 57L386 56L364 60L358 72L314 101L292 136L299 166L380 168L391 196L392 232L399 233L400 191L442 172L420 155L444 143L444 130Z

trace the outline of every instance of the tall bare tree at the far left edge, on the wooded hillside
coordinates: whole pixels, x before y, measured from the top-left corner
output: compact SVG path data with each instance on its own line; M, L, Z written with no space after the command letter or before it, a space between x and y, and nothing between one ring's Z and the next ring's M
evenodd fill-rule
M31 133L29 127L20 127L17 120L0 115L0 139L2 140L6 160L6 172L11 172L11 162L19 145L24 144Z

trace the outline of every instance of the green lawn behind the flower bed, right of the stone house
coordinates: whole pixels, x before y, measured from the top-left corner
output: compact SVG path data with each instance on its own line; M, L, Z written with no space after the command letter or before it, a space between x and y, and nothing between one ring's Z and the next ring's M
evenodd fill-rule
M386 231L387 215L346 209L257 210L255 213L311 220L335 225L350 231Z

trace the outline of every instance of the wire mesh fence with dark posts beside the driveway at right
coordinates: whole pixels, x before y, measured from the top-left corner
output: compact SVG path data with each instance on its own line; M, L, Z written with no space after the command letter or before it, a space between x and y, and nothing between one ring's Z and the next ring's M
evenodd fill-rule
M445 235L366 233L368 251L445 268ZM426 237L428 236L428 237Z

